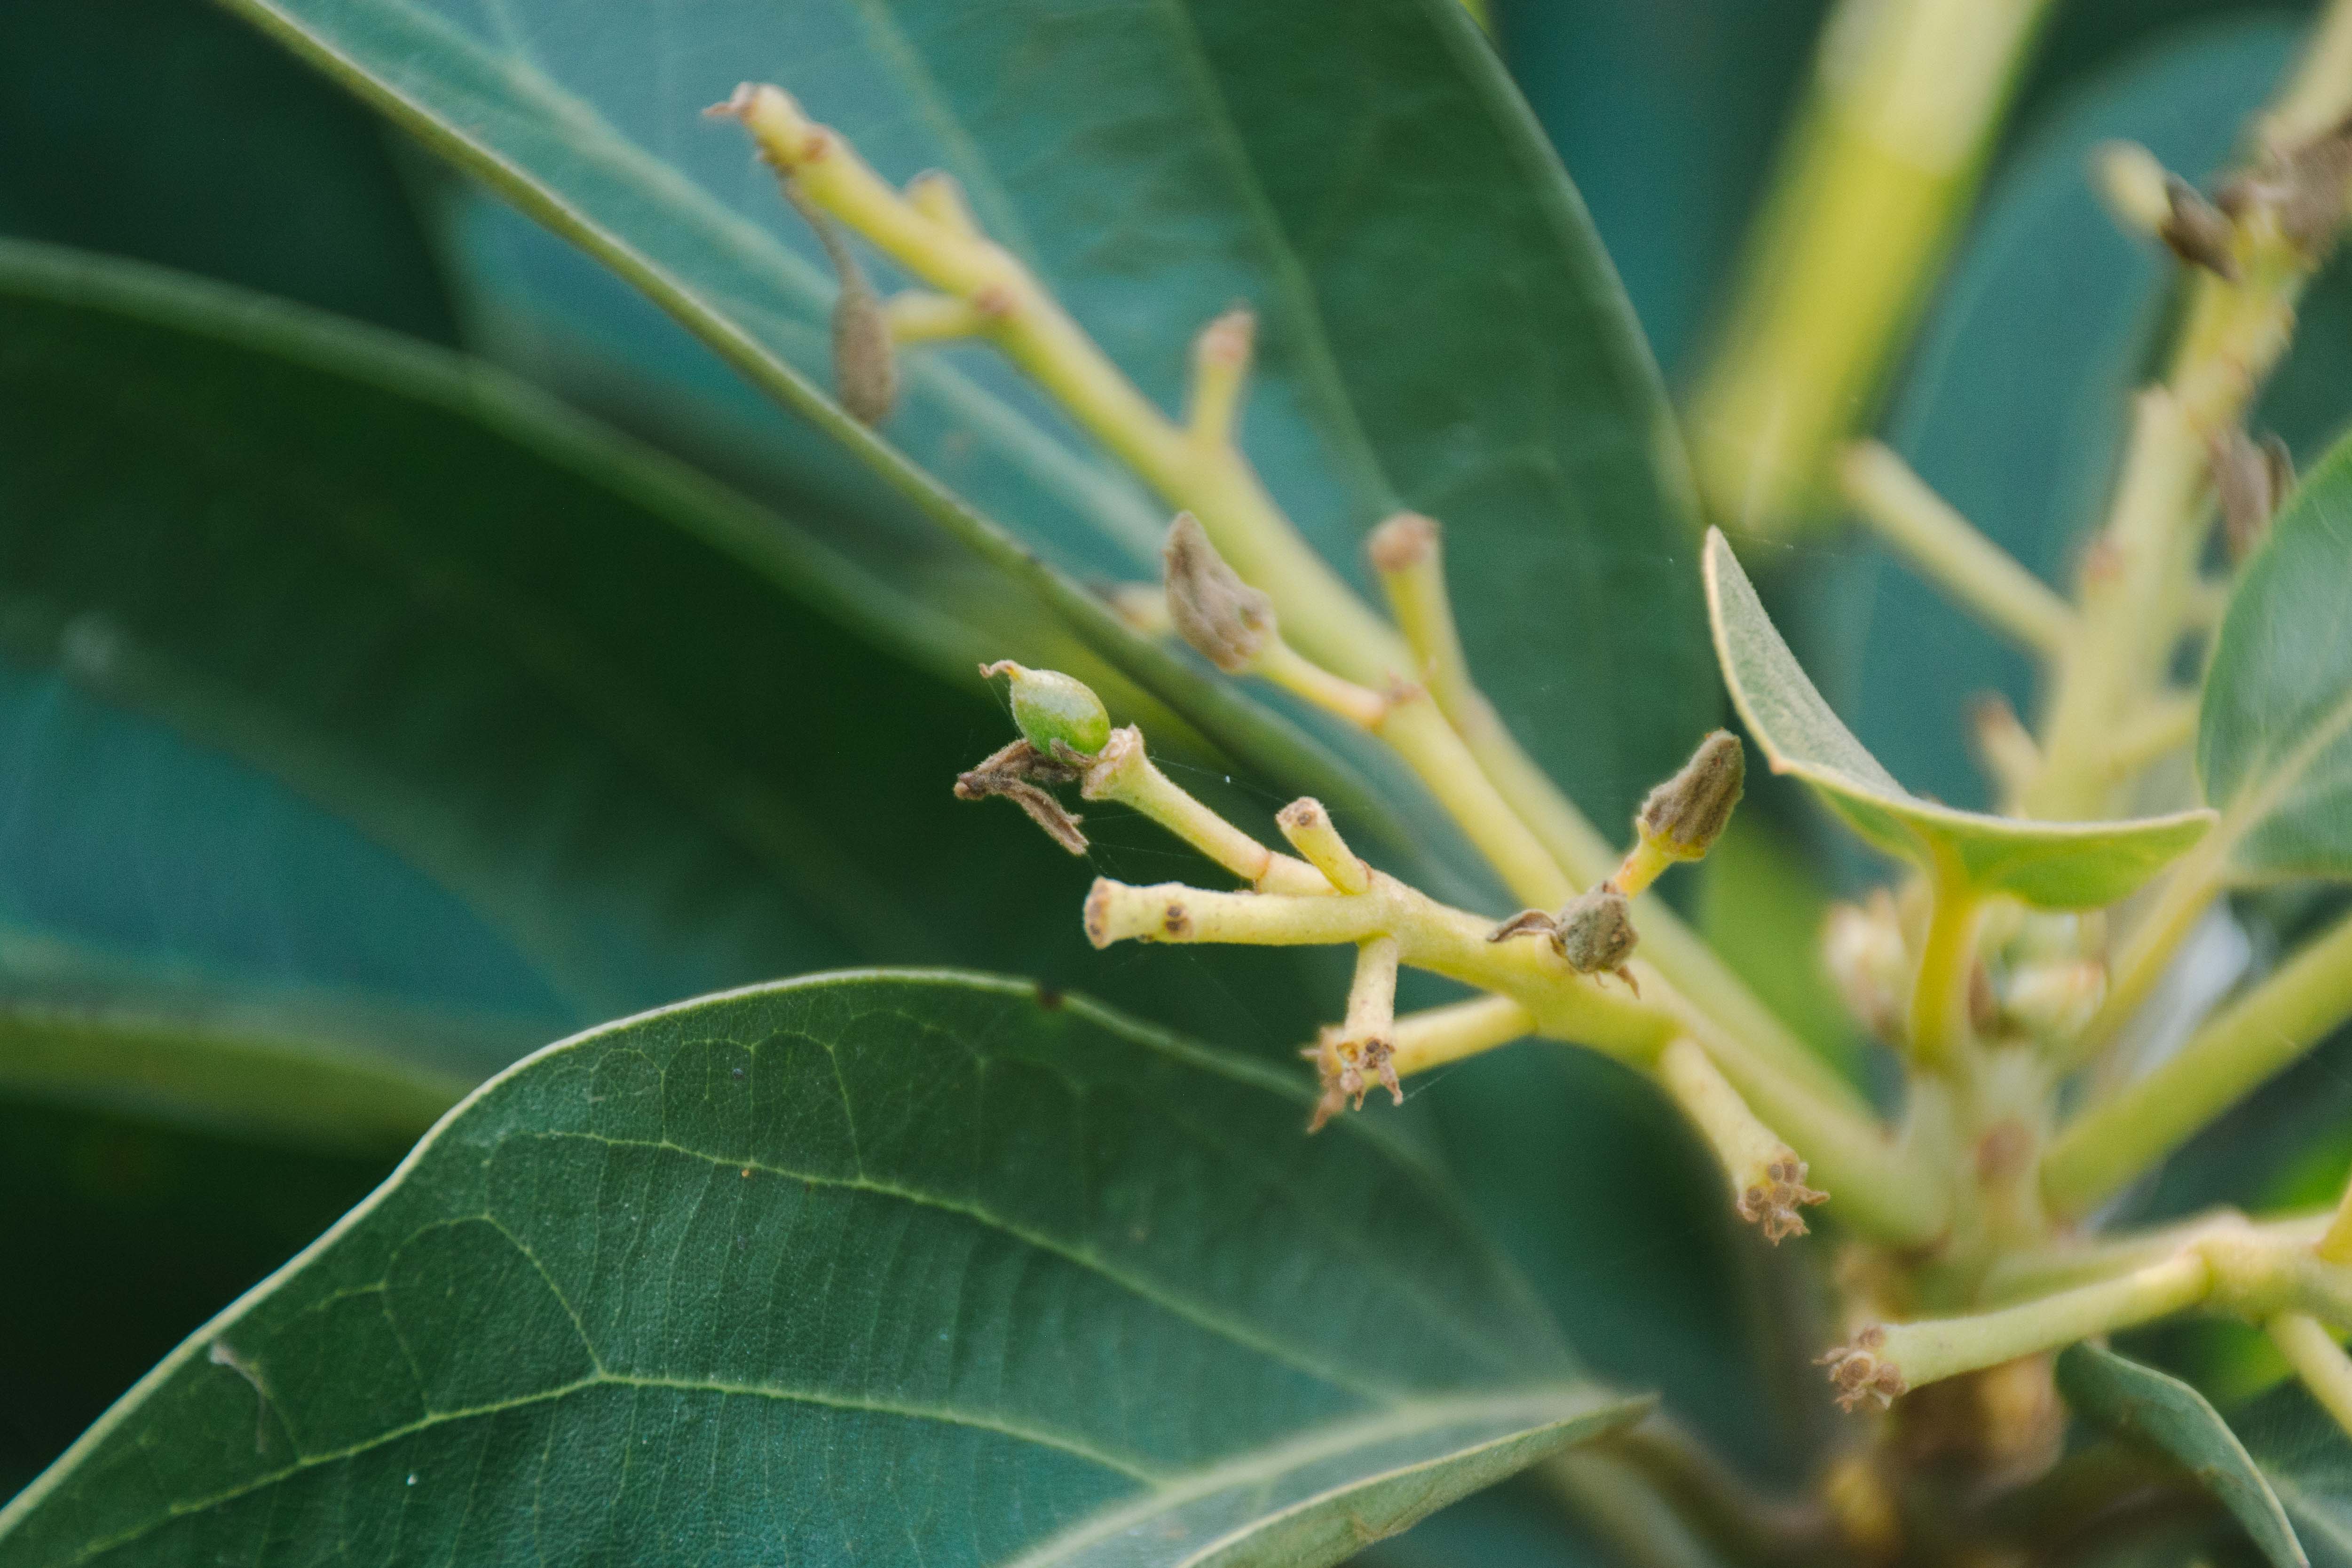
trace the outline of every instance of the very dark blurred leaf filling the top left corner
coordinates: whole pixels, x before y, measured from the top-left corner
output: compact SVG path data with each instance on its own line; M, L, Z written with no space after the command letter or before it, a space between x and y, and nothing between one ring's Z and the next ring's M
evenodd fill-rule
M0 233L456 341L383 127L205 0L0 7Z

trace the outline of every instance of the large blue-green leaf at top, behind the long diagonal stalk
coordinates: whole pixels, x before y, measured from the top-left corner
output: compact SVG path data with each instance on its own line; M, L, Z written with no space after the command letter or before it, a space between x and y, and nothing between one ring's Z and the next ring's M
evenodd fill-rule
M1145 576L1164 512L985 355L915 355L882 437L847 421L816 390L830 284L809 235L699 110L771 75L884 174L950 169L1162 407L1190 334L1247 299L1263 353L1244 442L1277 498L1359 581L1362 531L1390 508L1442 517L1472 663L1599 820L1712 717L1656 371L1576 193L1454 0L729 0L593 26L555 0L238 9L1009 564L1011 541L955 496L1087 578ZM682 63L637 68L649 59ZM1082 597L1047 597L1190 701ZM1185 712L1242 750L1218 715Z

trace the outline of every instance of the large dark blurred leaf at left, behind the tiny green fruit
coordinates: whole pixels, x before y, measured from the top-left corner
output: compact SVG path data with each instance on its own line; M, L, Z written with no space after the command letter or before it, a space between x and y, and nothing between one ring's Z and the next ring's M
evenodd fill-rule
M943 663L957 628L480 367L14 249L0 508L0 646L358 823L574 1016L946 959L1240 1013L1247 1044L1312 1025L1322 954L1108 969L1089 867L950 799L1009 724L880 646ZM1101 825L1110 870L1178 853Z

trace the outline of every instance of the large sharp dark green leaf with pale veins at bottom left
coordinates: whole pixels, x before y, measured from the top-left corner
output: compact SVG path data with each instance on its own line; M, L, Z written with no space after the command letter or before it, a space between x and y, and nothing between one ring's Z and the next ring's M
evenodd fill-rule
M141 1380L0 1566L1331 1563L1649 1408L1303 1112L976 976L593 1030Z

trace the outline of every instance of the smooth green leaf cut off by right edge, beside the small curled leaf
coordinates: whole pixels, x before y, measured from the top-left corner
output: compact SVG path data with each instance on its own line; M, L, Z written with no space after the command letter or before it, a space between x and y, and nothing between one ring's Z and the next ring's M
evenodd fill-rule
M2352 877L2352 444L2296 487L2246 562L2197 719L2197 771L2230 870Z

